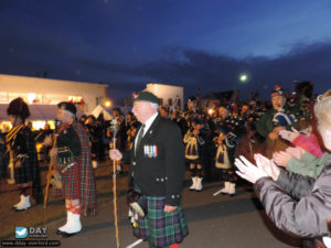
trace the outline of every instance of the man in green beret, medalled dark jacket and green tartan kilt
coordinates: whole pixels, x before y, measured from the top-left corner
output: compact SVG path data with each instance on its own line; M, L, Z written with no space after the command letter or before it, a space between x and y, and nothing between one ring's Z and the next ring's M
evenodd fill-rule
M125 159L131 162L129 187L140 193L138 201L130 204L134 212L140 213L132 225L134 235L148 240L150 247L172 248L189 233L181 204L184 147L180 128L161 118L158 107L159 98L149 91L135 98L132 111L142 126ZM118 150L110 150L109 155L113 160L122 159Z

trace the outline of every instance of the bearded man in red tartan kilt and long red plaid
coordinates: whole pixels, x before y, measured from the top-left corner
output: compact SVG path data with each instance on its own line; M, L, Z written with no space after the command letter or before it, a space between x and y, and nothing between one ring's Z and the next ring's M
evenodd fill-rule
M61 125L52 157L56 157L56 169L62 175L67 219L56 234L71 237L82 229L81 213L85 216L96 214L96 187L89 139L82 123L76 121L76 107L65 101L57 107Z

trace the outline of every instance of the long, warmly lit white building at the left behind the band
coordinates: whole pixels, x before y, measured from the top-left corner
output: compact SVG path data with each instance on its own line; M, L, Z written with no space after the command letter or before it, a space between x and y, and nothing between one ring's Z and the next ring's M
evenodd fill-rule
M105 104L107 87L104 84L0 74L0 121L8 120L8 104L17 97L30 105L31 114L34 114L30 120L34 120L35 129L43 127L45 120L55 118L55 105L61 101L72 101L81 114L89 114L97 105Z

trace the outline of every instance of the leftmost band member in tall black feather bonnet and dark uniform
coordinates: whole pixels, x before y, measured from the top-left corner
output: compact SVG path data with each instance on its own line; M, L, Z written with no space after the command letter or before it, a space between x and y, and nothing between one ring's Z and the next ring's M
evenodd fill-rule
M13 208L25 211L31 207L31 195L34 196L36 203L43 202L35 142L31 129L24 126L30 111L28 105L19 97L9 104L7 114L12 123L12 129L6 137L10 154L9 166L13 172L11 180L14 179L14 183L21 191L21 201Z

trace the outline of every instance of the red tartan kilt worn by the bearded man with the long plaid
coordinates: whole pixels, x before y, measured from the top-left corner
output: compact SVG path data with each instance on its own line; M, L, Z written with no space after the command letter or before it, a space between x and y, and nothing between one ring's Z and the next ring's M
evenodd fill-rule
M79 200L79 164L75 162L75 165L67 169L62 175L62 194L67 200Z

